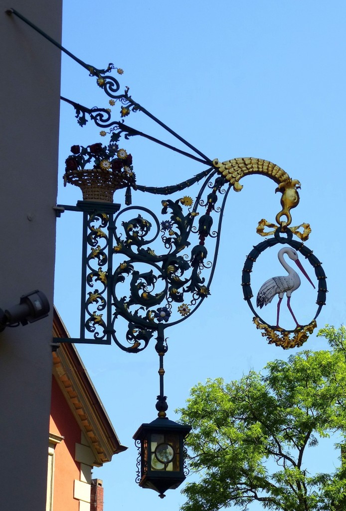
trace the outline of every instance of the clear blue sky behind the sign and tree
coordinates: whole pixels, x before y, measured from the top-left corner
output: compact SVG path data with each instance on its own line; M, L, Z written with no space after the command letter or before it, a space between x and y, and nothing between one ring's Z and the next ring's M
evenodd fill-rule
M336 0L328 5L316 0L64 3L63 45L95 67L113 62L123 68L121 88L130 86L136 101L208 157L268 159L301 181L292 224L310 223L307 245L328 276L327 306L318 327L338 326L345 314L345 11L344 2ZM95 80L64 55L61 94L88 107L108 107L109 98ZM127 124L176 144L143 114L132 113ZM107 142L99 131L91 122L80 128L73 109L61 105L59 203L73 205L81 199L78 189L63 188L70 146ZM120 147L133 155L140 184L175 184L204 169L139 137ZM211 296L191 318L166 331L170 419L176 419L174 409L184 405L196 382L218 376L237 379L250 368L260 370L268 360L292 353L266 344L252 323L240 286L245 256L262 240L256 235L257 223L261 218L275 220L280 197L274 181L263 176L245 177L242 184L240 193L231 191L228 196ZM194 198L198 189L184 194ZM115 201L123 204L123 199L123 192L117 192ZM161 221L160 201L161 197L133 193L133 204L151 207ZM266 252L256 263L254 289L282 271L276 249ZM81 216L66 212L58 220L55 304L73 337L78 336L80 258ZM303 280L291 305L308 322L316 307L315 293ZM275 316L275 308L276 304L269 308L268 317ZM325 346L312 335L304 348ZM104 481L105 511L138 506L144 511L163 506L177 510L184 502L179 490L167 492L161 501L134 481L137 453L132 435L156 416L154 342L137 355L123 353L114 344L78 349L121 443L129 447L94 472ZM333 470L338 464L330 444L315 452L314 470ZM252 509L260 507L255 504Z

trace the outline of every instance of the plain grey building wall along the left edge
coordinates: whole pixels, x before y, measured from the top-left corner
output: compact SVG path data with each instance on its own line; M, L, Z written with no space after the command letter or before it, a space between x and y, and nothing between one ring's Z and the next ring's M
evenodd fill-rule
M61 0L0 0L0 307L40 289L53 309ZM29 218L31 218L31 221ZM0 508L45 509L53 311L0 333Z

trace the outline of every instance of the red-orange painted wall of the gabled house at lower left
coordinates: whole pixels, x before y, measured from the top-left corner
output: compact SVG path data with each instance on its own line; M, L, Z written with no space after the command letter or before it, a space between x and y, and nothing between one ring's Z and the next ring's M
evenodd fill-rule
M76 443L81 442L81 430L54 376L50 433L64 436L55 448L53 511L78 511L79 500L73 498L73 481L80 479L80 463L75 461L75 450Z

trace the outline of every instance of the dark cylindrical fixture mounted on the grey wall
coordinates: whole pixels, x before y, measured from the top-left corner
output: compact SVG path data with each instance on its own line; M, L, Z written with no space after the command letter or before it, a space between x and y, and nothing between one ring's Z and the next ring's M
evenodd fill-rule
M23 326L48 316L51 307L42 291L36 289L20 297L19 304L3 311L0 309L0 332L6 327Z

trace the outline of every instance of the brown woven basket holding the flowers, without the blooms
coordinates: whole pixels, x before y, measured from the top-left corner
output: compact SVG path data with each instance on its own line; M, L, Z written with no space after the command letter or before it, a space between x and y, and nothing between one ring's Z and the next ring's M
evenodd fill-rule
M115 190L126 188L130 179L121 172L102 169L66 170L66 183L74 184L82 190L83 200L113 202Z

